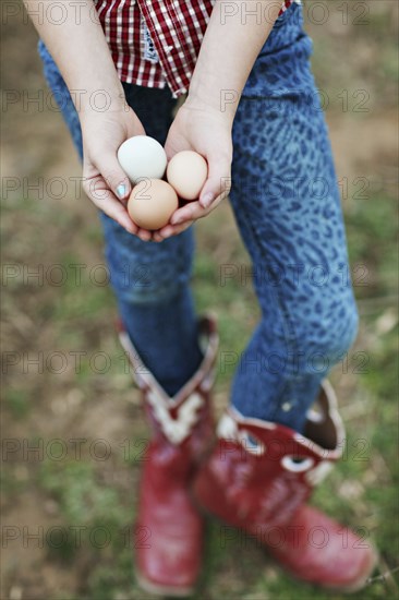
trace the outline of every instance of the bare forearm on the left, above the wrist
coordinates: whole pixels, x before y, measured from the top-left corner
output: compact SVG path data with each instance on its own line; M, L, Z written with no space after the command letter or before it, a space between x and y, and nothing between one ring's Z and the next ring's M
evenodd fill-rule
M123 106L124 95L107 40L92 0L64 4L62 24L55 20L38 17L43 0L24 0L27 13L39 36L50 50L70 91L76 110L93 108L98 91L98 105L110 110ZM100 108L98 107L98 108ZM96 107L94 107L96 108Z

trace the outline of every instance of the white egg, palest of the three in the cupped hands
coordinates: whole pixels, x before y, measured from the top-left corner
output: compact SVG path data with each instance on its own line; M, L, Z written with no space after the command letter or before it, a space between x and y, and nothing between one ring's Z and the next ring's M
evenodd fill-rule
M118 149L118 160L132 183L143 177L161 179L167 166L162 146L148 135L130 137Z

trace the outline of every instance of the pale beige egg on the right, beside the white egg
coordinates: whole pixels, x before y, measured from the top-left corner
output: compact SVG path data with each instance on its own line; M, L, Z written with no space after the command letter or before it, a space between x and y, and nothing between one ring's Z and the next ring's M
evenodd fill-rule
M207 177L207 163L196 152L178 152L168 164L167 179L183 200L196 200Z

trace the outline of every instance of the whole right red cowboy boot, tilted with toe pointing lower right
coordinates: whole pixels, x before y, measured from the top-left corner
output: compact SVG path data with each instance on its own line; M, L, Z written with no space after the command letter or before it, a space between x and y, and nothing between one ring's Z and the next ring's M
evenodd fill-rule
M293 576L342 591L366 583L376 562L367 541L304 503L342 454L344 432L325 382L305 435L230 409L216 447L194 479L200 506L242 528Z

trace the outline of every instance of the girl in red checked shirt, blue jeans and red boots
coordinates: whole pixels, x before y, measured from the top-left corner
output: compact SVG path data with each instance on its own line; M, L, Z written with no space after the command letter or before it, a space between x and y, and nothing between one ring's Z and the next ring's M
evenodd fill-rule
M86 0L64 2L61 24L35 16L39 3L26 8L83 158L85 191L100 209L120 337L153 425L136 530L149 543L135 544L142 586L168 596L192 591L202 507L255 537L299 578L362 587L373 549L305 505L342 451L324 377L350 347L358 314L300 3ZM119 146L144 133L168 158L193 149L209 169L198 200L157 231L130 219L131 184L117 160ZM262 320L237 369L218 441L198 466L211 433L217 337L215 324L195 315L190 226L228 193ZM145 274L144 285L126 281L126 265Z

